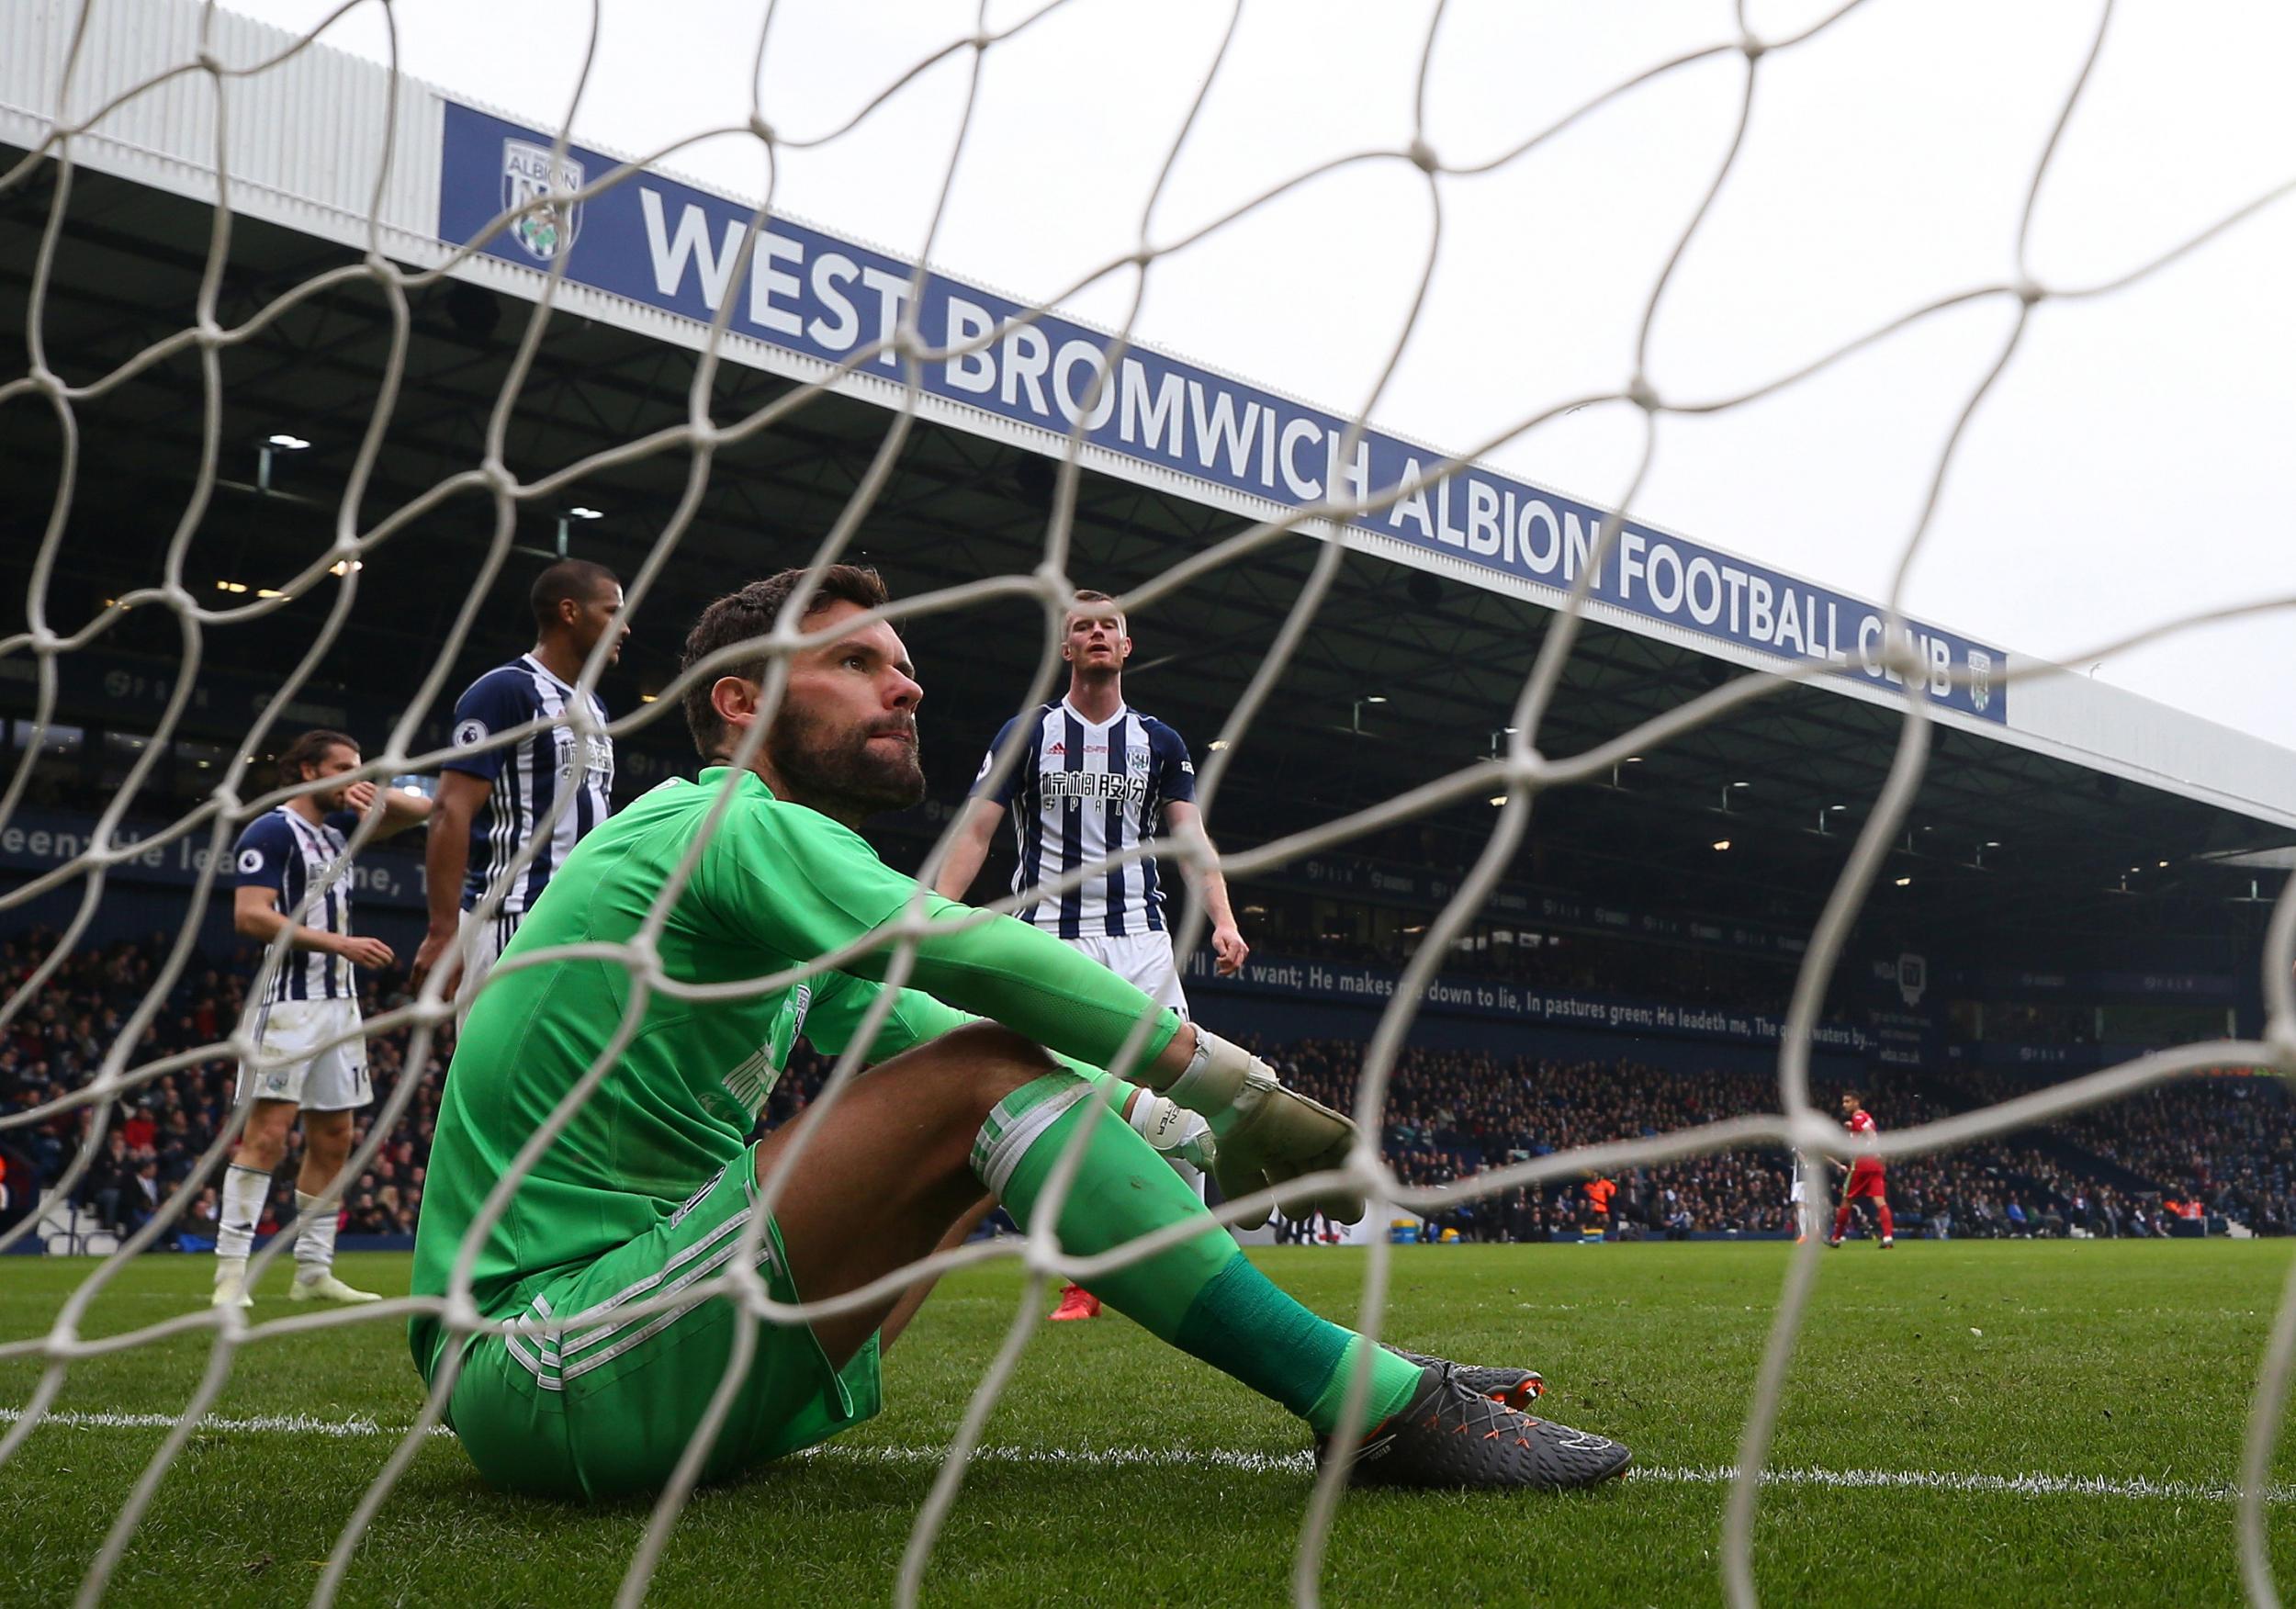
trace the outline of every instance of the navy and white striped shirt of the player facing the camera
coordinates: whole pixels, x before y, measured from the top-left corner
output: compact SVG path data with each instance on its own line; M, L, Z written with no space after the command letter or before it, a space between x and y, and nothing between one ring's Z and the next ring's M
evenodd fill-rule
M1093 725L1063 698L1033 716L1006 721L974 778L976 792L1008 741L1026 744L1003 787L987 794L1013 810L1019 865L1013 893L1104 861L1157 835L1164 806L1196 796L1187 744L1155 716L1130 705ZM1017 911L1063 939L1127 939L1164 932L1164 888L1155 856L1111 865L1081 888Z

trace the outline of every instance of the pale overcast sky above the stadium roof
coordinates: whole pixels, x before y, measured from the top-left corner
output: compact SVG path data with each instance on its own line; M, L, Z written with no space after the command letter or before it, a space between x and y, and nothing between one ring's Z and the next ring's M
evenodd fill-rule
M315 25L321 0L234 0ZM1026 7L1033 9L1033 7ZM1010 23L1024 7L992 7ZM1754 0L1777 39L1823 16ZM572 0L397 0L402 64L551 126L583 55ZM604 0L576 138L643 151L742 122L755 0ZM1132 248L1155 172L1231 7L1072 0L990 50L932 243L960 278L1029 298ZM1329 156L1412 138L1428 5L1247 0L1150 239L1169 241ZM2089 44L2071 0L1869 0L1759 71L1745 149L1667 289L1651 379L1667 397L1752 388L1929 298L2014 275L2032 165ZM905 67L969 34L948 0L776 7L765 117L817 138ZM381 53L363 7L331 41ZM1733 37L1727 0L1449 7L1426 138L1495 156L1600 90ZM1442 181L1433 294L1373 418L1465 448L1632 372L1642 308L1722 161L1745 85L1724 55L1628 92L1488 177ZM2296 174L2296 7L2133 0L2041 195L2046 285L2124 273ZM969 53L820 151L783 151L778 209L914 257L971 73ZM742 195L748 135L666 163ZM1265 207L1148 275L1141 340L1336 411L1362 406L1428 252L1426 177L1366 163ZM2296 200L2112 298L2043 305L1981 409L1906 594L1908 611L2080 663L2170 613L2296 592ZM1068 298L1120 321L1130 278ZM1669 418L1635 512L1701 542L1880 597L1945 432L2011 324L1995 298L1933 317L1779 397ZM1575 413L1490 461L1614 503L1637 415ZM2296 746L2296 617L2112 654L2094 675Z

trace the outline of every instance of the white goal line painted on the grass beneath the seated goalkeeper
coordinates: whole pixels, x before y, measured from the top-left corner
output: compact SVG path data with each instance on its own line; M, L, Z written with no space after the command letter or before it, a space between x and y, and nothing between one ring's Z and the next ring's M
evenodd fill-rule
M18 1407L0 1407L0 1425L11 1425L23 1416ZM57 1430L168 1430L174 1414L106 1414L57 1409L41 1416L41 1425ZM250 1418L211 1416L200 1421L200 1430L225 1435L310 1435L310 1437L404 1437L402 1425L379 1425L372 1418L315 1418L310 1414L257 1414ZM445 1425L432 1425L429 1435L452 1437ZM939 1464L946 1458L939 1446L886 1446L847 1444L806 1448L797 1458L829 1458L836 1462L866 1464ZM1247 1476L1306 1476L1316 1471L1309 1453L1240 1453L1231 1448L1176 1448L1176 1446L983 1446L974 1453L976 1464L1024 1464L1054 1469L1233 1469ZM1738 1471L1729 1464L1630 1464L1621 1480L1635 1485L1724 1485ZM1975 1497L2112 1497L2133 1501L2179 1501L2179 1503L2229 1503L2239 1487L2229 1480L2151 1480L2147 1476L1970 1476L1945 1469L1766 1469L1763 1485L1795 1485L1837 1492L1952 1492ZM2296 1501L2296 1487L2275 1485L2264 1499L2268 1503Z

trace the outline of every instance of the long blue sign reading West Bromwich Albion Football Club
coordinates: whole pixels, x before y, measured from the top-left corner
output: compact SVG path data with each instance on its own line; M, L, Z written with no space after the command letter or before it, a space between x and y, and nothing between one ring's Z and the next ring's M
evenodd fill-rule
M448 101L439 239L478 239L505 195L551 193L537 179L549 172L546 151L546 133ZM613 168L599 151L569 147L560 177L597 181ZM698 324L730 301L735 335L820 363L845 363L891 337L909 312L912 264L790 220L767 223L735 282L751 207L652 172L585 197L565 218L556 209L535 216L544 225L505 227L482 250L535 273L563 259L572 282ZM918 331L937 349L985 342L923 367L921 388L941 402L1056 438L1081 422L1093 448L1279 507L1401 489L1355 528L1529 588L1568 590L1589 567L1603 523L1589 503L1481 466L1435 480L1440 452L1384 432L1343 452L1348 420L1336 413L1146 347L1111 365L1114 337L1075 319L1045 314L990 340L1026 305L946 275L925 275L916 301ZM866 367L902 379L893 351ZM1694 638L1896 684L1880 663L1878 606L1655 526L1626 523L1589 585L1603 606ZM1906 622L1906 636L1936 705L2009 721L2002 650L1919 622Z

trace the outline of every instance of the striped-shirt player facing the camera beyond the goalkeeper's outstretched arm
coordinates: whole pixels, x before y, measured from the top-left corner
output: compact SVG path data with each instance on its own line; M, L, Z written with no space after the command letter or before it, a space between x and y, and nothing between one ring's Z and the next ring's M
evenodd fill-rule
M1187 744L1176 730L1125 702L1123 675L1132 636L1114 604L1107 592L1077 592L1061 638L1068 698L1015 716L996 732L934 884L941 897L962 900L971 888L990 838L996 835L996 817L1008 808L1019 847L1013 893L1153 842L1157 824L1180 831L1199 819L1196 767L1187 757ZM987 787L990 767L1008 744L1024 746L1019 764L1001 785ZM1235 930L1228 881L1217 865L1196 877L1196 895L1212 918L1219 973L1242 971L1251 946ZM1187 1015L1155 856L1111 865L1104 877L1022 907L1017 916L1091 955L1157 1005ZM1173 1166L1203 1187L1194 1168L1180 1161ZM1072 1283L1061 1292L1052 1317L1068 1322L1097 1315L1100 1301Z

